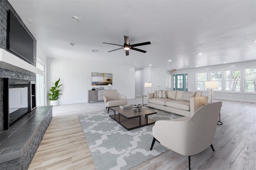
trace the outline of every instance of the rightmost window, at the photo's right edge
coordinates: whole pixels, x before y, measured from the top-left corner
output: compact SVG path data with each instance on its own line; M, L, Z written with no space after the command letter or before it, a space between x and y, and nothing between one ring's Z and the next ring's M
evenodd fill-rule
M244 91L256 92L256 68L245 69Z

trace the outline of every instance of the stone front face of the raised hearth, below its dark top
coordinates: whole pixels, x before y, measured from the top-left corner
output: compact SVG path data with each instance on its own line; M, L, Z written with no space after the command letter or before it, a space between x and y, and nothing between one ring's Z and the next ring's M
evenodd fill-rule
M52 120L52 109L50 109L45 117L45 123L41 126L40 130L34 137L33 141L30 143L29 147L26 149L26 152L22 155L21 158L3 162L0 164L0 169L4 170L27 170L30 162L32 161L36 150L38 149L40 142L44 137L47 127Z

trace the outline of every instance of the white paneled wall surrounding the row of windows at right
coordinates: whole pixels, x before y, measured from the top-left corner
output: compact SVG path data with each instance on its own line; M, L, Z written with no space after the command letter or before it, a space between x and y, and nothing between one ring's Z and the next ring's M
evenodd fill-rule
M201 68L193 68L186 70L178 70L176 72L172 72L172 74L183 74L188 73L188 91L195 92L196 91L196 73L198 72L212 72L212 71L222 71L222 82L225 81L224 72L225 70L241 70L241 92L225 92L224 84L222 83L222 92L214 91L215 99L222 100L233 100L233 101L241 101L241 102L256 102L256 94L255 93L247 93L244 92L244 69L245 68L255 68L256 61L243 62L243 63L233 63L233 64L223 64L218 66L210 66L210 67L201 67ZM202 96L209 96L209 91L202 92Z

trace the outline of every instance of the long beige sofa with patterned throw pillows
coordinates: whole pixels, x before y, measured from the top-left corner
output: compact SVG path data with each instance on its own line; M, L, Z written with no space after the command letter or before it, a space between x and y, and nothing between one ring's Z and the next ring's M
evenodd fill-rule
M159 90L148 93L147 102L148 107L192 117L202 103L208 102L208 97L202 96L202 92Z

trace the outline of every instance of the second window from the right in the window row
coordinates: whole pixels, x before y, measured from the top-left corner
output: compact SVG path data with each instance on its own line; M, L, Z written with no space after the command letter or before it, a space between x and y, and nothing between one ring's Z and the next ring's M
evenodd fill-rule
M240 70L226 70L226 91L240 92Z

